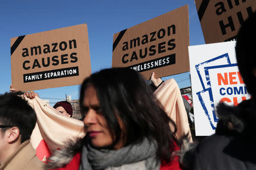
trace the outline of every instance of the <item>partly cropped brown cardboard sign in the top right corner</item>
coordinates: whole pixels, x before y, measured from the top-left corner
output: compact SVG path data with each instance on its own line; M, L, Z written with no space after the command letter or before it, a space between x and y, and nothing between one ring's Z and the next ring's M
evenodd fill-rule
M243 21L256 10L255 0L195 0L205 43L236 40Z

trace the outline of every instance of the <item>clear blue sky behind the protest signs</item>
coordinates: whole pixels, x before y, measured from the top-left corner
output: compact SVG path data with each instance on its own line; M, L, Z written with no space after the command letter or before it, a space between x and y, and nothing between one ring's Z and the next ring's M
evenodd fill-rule
M111 67L113 34L188 4L190 45L205 44L193 0L158 1L1 1L0 94L11 84L10 39L87 23L92 73ZM170 78L170 77L168 77ZM172 76L180 88L191 86L189 72ZM167 78L164 78L167 79ZM44 98L79 98L79 86L37 90ZM51 99L51 103L57 100Z

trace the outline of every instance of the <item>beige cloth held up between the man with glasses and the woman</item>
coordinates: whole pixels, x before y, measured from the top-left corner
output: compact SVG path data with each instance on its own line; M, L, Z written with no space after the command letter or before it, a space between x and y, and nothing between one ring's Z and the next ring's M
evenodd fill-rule
M56 109L46 104L39 97L35 97L35 99L27 99L26 97L26 100L35 110L37 117L36 126L31 135L31 144L36 149L36 155L40 152L38 146L40 143L42 144L42 140L44 140L51 153L56 149L63 148L64 142L68 139L84 137L84 122L61 116Z

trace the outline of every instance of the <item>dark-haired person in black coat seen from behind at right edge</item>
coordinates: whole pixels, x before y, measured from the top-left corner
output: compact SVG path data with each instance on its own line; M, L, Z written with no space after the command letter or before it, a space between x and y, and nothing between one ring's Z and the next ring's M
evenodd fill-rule
M256 167L255 30L256 12L242 24L236 44L238 69L252 98L237 106L218 104L215 134L204 138L181 157L187 169L247 170Z

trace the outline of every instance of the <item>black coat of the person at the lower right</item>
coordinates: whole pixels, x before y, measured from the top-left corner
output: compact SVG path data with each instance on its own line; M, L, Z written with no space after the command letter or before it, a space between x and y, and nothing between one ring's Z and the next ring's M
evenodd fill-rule
M216 133L185 152L185 169L256 169L256 103L220 103Z

